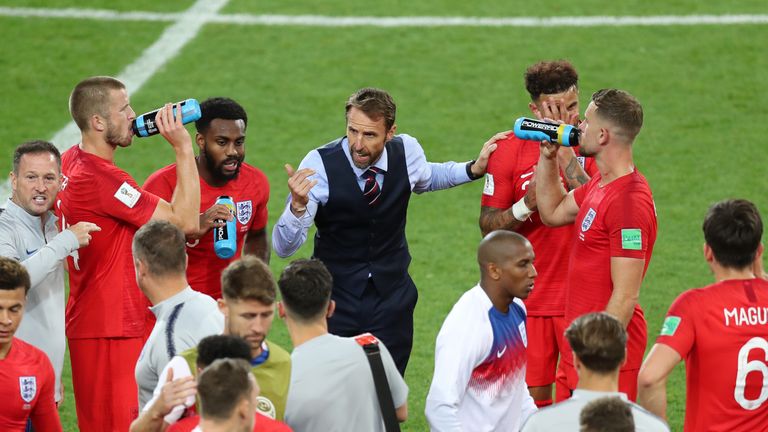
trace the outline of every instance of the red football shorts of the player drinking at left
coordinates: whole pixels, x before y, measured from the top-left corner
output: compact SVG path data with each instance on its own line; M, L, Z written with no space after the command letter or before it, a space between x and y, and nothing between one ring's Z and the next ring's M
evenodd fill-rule
M138 416L134 370L143 338L69 339L81 432L127 431Z

